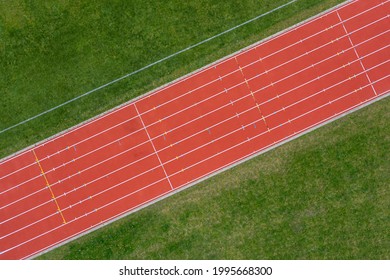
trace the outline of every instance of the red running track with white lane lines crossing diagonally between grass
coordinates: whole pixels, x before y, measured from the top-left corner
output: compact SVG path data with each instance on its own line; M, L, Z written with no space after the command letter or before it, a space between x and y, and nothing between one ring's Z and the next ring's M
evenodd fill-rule
M352 1L0 162L23 259L390 90L390 0Z

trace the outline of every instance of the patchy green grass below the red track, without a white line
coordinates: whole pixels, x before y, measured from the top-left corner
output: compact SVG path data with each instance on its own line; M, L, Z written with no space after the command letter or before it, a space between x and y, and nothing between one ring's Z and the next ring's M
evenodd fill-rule
M40 259L389 259L390 98Z

